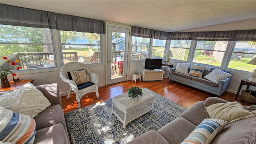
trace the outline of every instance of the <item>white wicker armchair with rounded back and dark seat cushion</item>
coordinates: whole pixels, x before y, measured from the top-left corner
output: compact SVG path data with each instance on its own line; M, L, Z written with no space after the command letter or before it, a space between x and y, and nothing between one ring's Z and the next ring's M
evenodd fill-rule
M89 82L93 82L94 84L92 86L88 86L86 88L78 89L79 85L77 86L76 83L73 80L68 79L68 72L70 71L78 71L84 69L86 71L86 74L89 74ZM60 78L69 84L70 90L68 92L67 99L69 98L69 94L71 91L74 91L76 93L76 102L77 102L77 108L80 108L80 99L82 96L87 94L88 92L96 92L97 98L99 98L99 92L98 92L98 83L99 83L99 76L95 73L92 73L89 68L83 64L82 62L68 62L64 64L60 68Z

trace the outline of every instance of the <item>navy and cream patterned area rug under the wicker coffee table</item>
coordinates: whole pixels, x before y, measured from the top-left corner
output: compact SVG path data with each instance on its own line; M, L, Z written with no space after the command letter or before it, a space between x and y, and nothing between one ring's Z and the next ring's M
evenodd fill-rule
M111 114L112 99L79 108L65 114L72 144L125 144L149 130L159 130L186 110L182 106L155 94L153 112L137 118L123 128L122 122Z

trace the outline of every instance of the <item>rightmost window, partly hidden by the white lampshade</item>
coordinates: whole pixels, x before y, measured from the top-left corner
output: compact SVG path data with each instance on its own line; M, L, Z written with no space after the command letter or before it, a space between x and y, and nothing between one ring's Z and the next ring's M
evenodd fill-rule
M236 42L228 64L228 68L253 71L256 66L247 64L256 56L256 42Z

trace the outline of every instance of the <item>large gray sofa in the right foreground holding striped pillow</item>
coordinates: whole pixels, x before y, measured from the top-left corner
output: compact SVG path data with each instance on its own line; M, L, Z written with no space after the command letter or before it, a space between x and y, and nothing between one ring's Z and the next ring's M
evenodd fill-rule
M228 101L217 97L207 98L204 102L198 101L160 130L150 130L127 144L180 144L202 120L207 118L204 107L218 102ZM246 108L249 109L249 106ZM232 122L224 127L211 144L254 144L255 128L256 116Z

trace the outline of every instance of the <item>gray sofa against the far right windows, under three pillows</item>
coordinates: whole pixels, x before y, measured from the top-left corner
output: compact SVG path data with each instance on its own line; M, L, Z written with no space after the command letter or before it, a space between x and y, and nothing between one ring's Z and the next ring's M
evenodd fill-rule
M170 69L170 76L169 79L180 82L182 84L186 84L188 86L192 86L194 88L198 88L200 90L204 90L206 92L210 92L212 94L215 94L217 96L221 96L228 88L229 82L231 77L225 78L223 80L220 80L219 83L212 82L210 80L207 80L206 78L199 78L196 76L190 76L187 74L182 74L180 72L175 72L176 68ZM228 70L222 70L224 72L227 72L231 74L231 71ZM204 70L203 77L206 76L210 71Z

